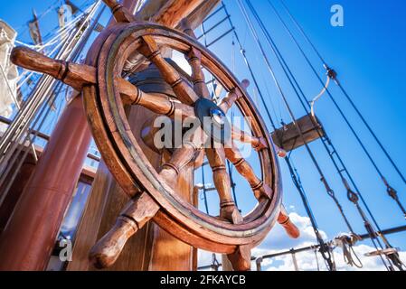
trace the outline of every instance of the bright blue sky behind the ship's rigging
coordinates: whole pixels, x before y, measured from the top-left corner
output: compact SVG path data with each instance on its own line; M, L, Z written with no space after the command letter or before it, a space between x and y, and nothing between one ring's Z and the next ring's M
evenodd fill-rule
M89 1L76 0L75 4L81 5ZM293 42L288 39L288 34L283 30L283 26L273 14L266 0L255 0L252 4L260 14L262 21L267 25L269 33L279 47L290 69L293 71L299 84L304 90L308 99L315 97L321 89L317 79L307 66L306 61L300 55ZM288 21L288 17L283 13L279 0L272 0L277 6L279 13ZM12 24L20 32L18 40L30 42L26 33L26 22L31 19L32 9L35 8L38 14L46 11L54 0L34 1L5 1L1 0L2 10L0 18ZM272 117L280 121L281 118L288 123L290 119L283 106L277 90L270 79L268 71L265 69L264 61L261 59L255 43L253 42L246 23L235 0L225 0L225 5L231 14L231 21L236 27L236 31L241 38L242 45L247 51L248 59L252 64L255 74L260 80L260 89L268 99ZM406 56L404 47L406 45L406 22L404 20L404 10L406 3L401 0L389 1L363 1L363 0L313 0L299 1L286 0L286 4L292 14L297 17L297 21L303 26L309 37L315 43L317 49L324 56L327 64L338 72L338 78L343 83L345 89L353 97L355 104L360 108L364 117L371 124L378 137L382 140L389 153L395 158L396 163L402 172L406 172L406 156L404 154L404 143L406 142L404 109L406 108L406 94L404 81L402 79ZM344 7L345 25L344 27L333 27L330 24L330 7L339 4ZM216 18L217 17L217 18ZM222 15L213 17L211 23L220 20ZM107 21L107 14L103 18ZM207 23L207 27L211 26ZM44 32L51 31L57 24L56 12L53 10L42 18L40 23ZM294 26L289 23L289 27ZM210 39L225 32L229 28L227 23L223 23L211 34ZM25 32L24 32L25 31ZM260 30L257 30L260 34ZM295 30L294 30L295 31ZM200 30L197 30L199 34ZM296 33L296 31L295 31ZM307 46L306 42L299 37L309 58L316 66L318 74L325 79L325 71L316 55ZM222 41L212 45L211 50L216 53L222 61L230 67L232 66L231 34ZM289 103L294 110L296 117L301 117L305 113L299 106L293 90L289 87L287 79L280 70L278 62L272 55L264 38L261 35L261 42L266 48L269 60L277 73L277 78L288 97ZM235 74L239 79L249 78L238 48L235 48ZM252 83L252 82L251 82ZM251 96L255 98L255 91L249 89ZM388 181L399 192L400 199L406 203L406 185L393 171L390 163L380 152L373 138L369 135L359 118L354 114L354 110L348 105L344 96L337 89L335 84L330 85L333 96L346 115L351 120L355 130L360 134L364 144L373 154L382 172ZM260 111L264 119L263 107L259 104ZM275 114L274 112L275 111ZM274 116L275 115L275 116ZM364 194L364 198L370 205L375 218L382 228L404 225L405 219L401 211L390 199L385 191L378 175L366 159L360 146L356 143L354 136L345 126L342 118L338 115L332 102L325 96L316 104L316 115L325 126L327 134L332 139L337 151L344 159L349 171L353 174L355 182ZM268 120L267 120L268 122ZM269 124L269 129L271 128ZM310 145L316 152L316 158L321 163L326 172L326 178L335 191L337 198L344 207L355 231L364 233L362 220L359 218L354 205L346 200L345 190L335 173L332 163L329 161L320 142ZM292 154L293 162L297 166L297 171L301 176L303 186L307 191L307 198L316 215L318 225L326 232L328 238L334 238L339 232L347 231L345 224L338 215L338 211L331 199L326 195L316 170L311 163L306 151L298 149ZM288 170L283 161L281 163L284 202L288 210L296 212L300 216L306 216L301 200L293 187ZM249 210L252 200L246 196L244 191L246 186L243 182L237 181L240 190L237 192L239 204L242 210ZM211 208L217 206L215 198L211 200ZM290 208L290 209L289 209ZM406 233L396 234L389 237L394 247L403 247ZM288 239L285 240L288 246L293 246ZM283 242L282 242L283 243ZM298 243L297 243L298 244ZM296 244L296 245L297 245ZM368 242L365 242L368 245ZM295 246L296 246L295 245Z

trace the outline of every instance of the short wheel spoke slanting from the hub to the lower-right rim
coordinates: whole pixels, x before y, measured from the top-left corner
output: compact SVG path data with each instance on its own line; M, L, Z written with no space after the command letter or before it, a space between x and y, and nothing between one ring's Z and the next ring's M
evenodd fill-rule
M232 145L231 147L224 148L224 152L227 159L230 160L237 171L247 180L248 183L250 183L255 198L257 198L257 200L264 198L270 199L272 189L255 175L250 163L242 157L240 150L235 145Z

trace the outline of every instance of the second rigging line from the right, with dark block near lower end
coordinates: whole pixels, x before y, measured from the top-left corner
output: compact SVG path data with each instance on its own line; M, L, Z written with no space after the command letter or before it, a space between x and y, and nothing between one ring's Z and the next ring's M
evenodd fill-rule
M297 39L295 38L295 36L292 34L292 32L290 31L290 29L288 28L288 25L285 23L285 21L280 17L280 14L276 11L274 5L272 5L272 3L270 1L268 1L269 5L271 5L275 11L276 14L279 15L279 20L281 21L281 23L284 25L285 30L288 32L290 38L293 40L293 42L296 43L297 45L297 49L301 52L301 54L303 55L303 57L305 58L305 60L307 61L307 64L309 65L309 67L311 68L311 70L313 71L313 73L316 75L316 79L318 79L318 81L320 82L320 84L324 87L324 82L323 80L318 76L318 73L315 69L315 67L313 66L313 64L311 63L311 61L308 59L305 51L303 51L303 49L301 48L300 44L297 42ZM345 117L345 114L343 112L343 110L341 109L341 107L338 106L338 103L335 101L335 98L333 97L333 95L331 94L329 89L326 89L327 95L328 97L332 100L333 104L335 105L335 108L338 110L339 114L341 115L341 117L343 117L343 119L345 120L345 124L348 126L348 128L351 130L351 132L353 133L356 141L358 142L358 144L360 144L361 148L364 151L364 154L366 154L366 156L368 157L370 163L373 164L373 168L375 169L375 171L378 173L378 175L381 177L382 182L384 183L384 185L386 186L386 189L388 192L390 191L394 191L394 189L389 185L388 182L386 182L386 179L384 178L381 170L379 169L378 165L375 163L375 161L373 160L372 155L368 152L368 150L366 149L363 141L360 139L360 137L358 136L358 134L355 132L354 127L351 125L351 123L349 122L348 118ZM396 192L396 191L394 191ZM399 205L399 202L398 202ZM399 206L401 211L403 212L403 214L406 216L406 212L403 211L404 209Z

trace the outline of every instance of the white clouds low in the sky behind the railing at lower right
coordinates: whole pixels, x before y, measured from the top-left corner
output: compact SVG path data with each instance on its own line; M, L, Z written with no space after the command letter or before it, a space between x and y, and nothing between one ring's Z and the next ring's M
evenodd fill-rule
M290 219L299 228L301 236L297 239L288 238L287 234L283 228L276 225L269 232L267 238L260 244L259 247L252 249L252 256L263 256L266 254L272 254L280 252L283 250L288 250L291 247L307 247L312 244L316 244L315 233L311 227L310 219L298 215L296 212L289 214ZM327 238L326 233L320 231L320 234L324 239ZM374 247L358 243L354 246L354 251L356 255L361 259L363 263L362 268L357 268L355 266L348 266L345 264L343 252L340 247L336 247L334 250L334 259L337 270L339 271L354 271L354 270L364 270L364 271L380 271L385 270L385 266L382 264L382 260L379 256L364 256L365 253L374 251ZM320 253L317 253L318 266L320 270L326 270L326 265L323 257ZM222 256L217 254L217 259L222 262ZM406 252L400 252L401 260L406 260ZM354 260L356 262L355 256ZM306 252L300 252L296 254L297 266L299 270L311 271L317 270L317 260L315 256L315 251L310 250ZM210 265L212 262L212 253L199 250L199 266ZM358 263L358 262L357 262ZM265 259L261 263L262 270L267 271L293 271L295 267L293 265L293 259L290 254L285 256L278 256L271 259ZM255 262L252 262L252 270L255 270Z

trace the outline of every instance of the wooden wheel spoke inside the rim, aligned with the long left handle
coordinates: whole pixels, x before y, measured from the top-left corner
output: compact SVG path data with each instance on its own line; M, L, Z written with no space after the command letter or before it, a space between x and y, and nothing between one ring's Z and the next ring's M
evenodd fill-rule
M168 117L195 117L194 107L173 101L162 94L149 94L138 89L126 79L117 78L118 90L125 105L140 105L159 115Z

